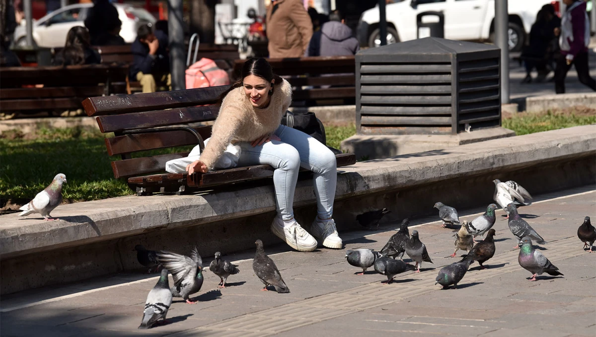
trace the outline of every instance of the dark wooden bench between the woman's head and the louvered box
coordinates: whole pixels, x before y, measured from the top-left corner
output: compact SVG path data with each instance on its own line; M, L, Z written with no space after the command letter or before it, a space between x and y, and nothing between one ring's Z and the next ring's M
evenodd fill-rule
M235 78L246 60L234 64ZM294 87L292 105L353 105L356 97L354 56L267 59L275 74ZM328 87L331 86L331 87Z

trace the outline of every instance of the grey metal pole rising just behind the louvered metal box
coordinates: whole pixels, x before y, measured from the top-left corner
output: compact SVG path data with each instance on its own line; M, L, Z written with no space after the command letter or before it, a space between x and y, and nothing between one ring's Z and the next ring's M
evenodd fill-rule
M501 104L509 103L509 14L507 0L495 0L495 42L501 48Z

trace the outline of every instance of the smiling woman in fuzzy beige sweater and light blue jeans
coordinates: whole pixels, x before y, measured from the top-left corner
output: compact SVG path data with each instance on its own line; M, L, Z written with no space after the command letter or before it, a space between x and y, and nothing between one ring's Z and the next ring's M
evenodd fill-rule
M200 160L189 164L187 172L204 173L213 169L230 143L242 149L238 166L273 166L277 216L271 223L271 231L296 250L313 251L318 242L296 222L293 209L298 171L301 167L308 169L314 173L317 209L311 232L325 247L342 248L333 221L336 156L308 134L280 125L291 95L290 83L275 75L266 59L246 61L241 80L222 95L211 139Z

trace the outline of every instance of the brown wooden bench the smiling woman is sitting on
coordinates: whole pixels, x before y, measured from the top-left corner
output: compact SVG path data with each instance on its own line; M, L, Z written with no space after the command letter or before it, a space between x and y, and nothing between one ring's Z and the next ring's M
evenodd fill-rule
M105 138L108 155L120 155L111 163L115 178L125 178L139 196L157 192L177 194L218 185L270 178L274 169L256 165L221 169L206 174L164 173L168 160L183 158L189 152L164 155L138 155L138 152L179 146L201 145L210 137L210 125L197 123L214 121L219 112L216 103L229 86L172 92L142 93L92 97L83 102L89 116L97 116L102 133L114 133ZM337 166L356 162L353 153L337 155Z

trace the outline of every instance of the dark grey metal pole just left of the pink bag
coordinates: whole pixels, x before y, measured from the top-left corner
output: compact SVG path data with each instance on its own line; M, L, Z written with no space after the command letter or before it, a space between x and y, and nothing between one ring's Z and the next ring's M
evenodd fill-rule
M182 0L167 1L167 29L170 43L170 74L172 90L186 89L184 78L184 26L182 23Z

